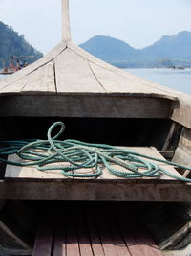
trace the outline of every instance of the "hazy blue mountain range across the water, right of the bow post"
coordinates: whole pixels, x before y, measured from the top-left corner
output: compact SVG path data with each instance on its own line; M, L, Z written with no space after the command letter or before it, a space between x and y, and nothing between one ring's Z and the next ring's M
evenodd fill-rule
M191 32L164 35L141 50L110 36L96 35L80 45L87 52L118 67L191 66Z

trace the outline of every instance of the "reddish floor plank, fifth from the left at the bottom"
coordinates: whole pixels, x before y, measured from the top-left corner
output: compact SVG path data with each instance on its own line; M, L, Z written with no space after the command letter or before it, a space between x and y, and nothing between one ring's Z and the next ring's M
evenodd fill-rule
M95 219L89 207L86 207L85 218L88 226L89 236L94 256L104 256L103 247L96 229Z

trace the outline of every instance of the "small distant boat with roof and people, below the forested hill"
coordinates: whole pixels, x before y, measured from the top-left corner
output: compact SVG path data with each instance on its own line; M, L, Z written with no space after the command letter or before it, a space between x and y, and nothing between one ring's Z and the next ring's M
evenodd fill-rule
M8 67L5 67L5 61L3 61L3 69L0 72L0 75L11 75L16 71L23 69L24 67L28 66L28 62L26 59L34 58L34 56L11 56L11 60Z

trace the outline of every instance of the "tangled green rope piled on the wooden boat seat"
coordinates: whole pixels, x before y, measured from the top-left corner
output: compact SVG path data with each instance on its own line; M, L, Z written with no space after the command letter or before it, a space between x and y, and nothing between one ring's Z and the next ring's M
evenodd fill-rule
M57 126L60 130L53 137L53 128ZM47 140L0 141L0 161L15 166L35 166L44 172L59 170L62 175L70 177L98 177L102 175L103 168L106 168L110 174L123 178L159 178L167 175L180 181L191 182L191 179L171 174L152 161L189 171L191 167L106 144L58 140L64 129L62 122L56 122L49 128ZM5 160L5 156L10 154L17 154L23 161ZM114 168L114 164L117 167Z

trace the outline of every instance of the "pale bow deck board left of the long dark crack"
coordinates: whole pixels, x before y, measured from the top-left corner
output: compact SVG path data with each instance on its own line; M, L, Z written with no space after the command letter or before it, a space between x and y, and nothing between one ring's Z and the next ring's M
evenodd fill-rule
M45 93L55 94L53 61L38 68L28 75L27 84L21 89L22 93Z

